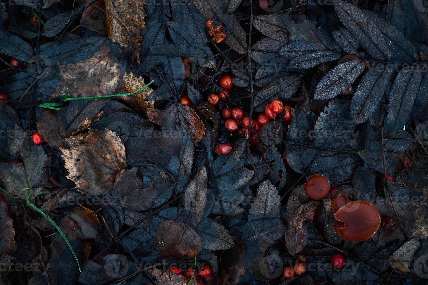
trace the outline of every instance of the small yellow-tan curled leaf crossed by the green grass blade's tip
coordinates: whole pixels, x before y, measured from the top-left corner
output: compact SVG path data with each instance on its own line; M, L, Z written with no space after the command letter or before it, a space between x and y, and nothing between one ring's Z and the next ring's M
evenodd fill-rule
M128 91L129 93L143 88L146 85L146 82L144 82L143 77L135 77L132 71L130 73L125 72L125 74L123 75L123 82L125 83L126 91ZM141 109L144 112L147 112L148 108L154 108L155 101L146 100L146 97L149 96L149 94L152 92L152 88L146 87L145 89L138 91L137 93L119 98L131 104L131 108L134 107L132 109Z

